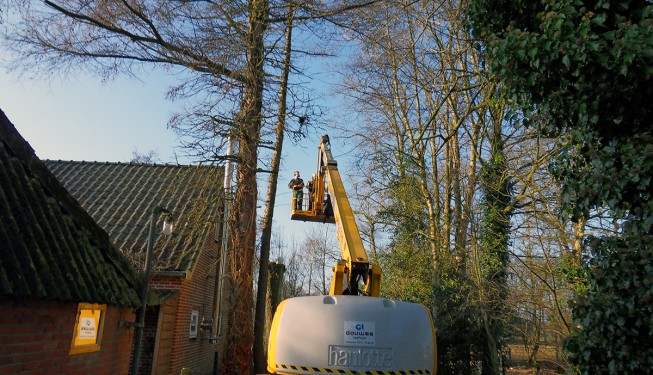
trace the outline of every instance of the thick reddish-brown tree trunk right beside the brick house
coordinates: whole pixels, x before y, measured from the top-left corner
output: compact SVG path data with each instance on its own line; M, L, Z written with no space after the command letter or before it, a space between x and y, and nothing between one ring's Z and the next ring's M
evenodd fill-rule
M263 106L264 45L263 37L269 13L267 0L249 1L247 70L245 95L237 119L239 140L237 188L230 232L233 244L232 324L227 335L223 374L249 375L252 372L252 304L254 300L253 264L256 247L256 167Z

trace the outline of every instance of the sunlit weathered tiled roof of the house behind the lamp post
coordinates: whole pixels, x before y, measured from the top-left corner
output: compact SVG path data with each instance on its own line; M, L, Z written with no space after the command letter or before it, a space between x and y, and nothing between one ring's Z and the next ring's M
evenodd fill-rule
M152 208L172 212L174 232L160 234L154 271L188 271L216 221L222 167L45 160L46 166L102 226L137 269L142 269Z

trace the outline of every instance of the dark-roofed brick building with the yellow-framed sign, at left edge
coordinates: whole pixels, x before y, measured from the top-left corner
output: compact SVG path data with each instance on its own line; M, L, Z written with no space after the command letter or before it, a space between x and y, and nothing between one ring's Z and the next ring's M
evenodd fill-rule
M0 374L126 374L140 280L0 111Z

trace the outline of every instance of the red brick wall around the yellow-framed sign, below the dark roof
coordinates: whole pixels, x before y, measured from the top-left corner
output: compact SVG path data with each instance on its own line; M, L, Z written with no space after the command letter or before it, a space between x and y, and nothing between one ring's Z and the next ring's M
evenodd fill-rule
M107 307L100 350L70 355L77 303L0 300L0 374L127 374L134 310Z

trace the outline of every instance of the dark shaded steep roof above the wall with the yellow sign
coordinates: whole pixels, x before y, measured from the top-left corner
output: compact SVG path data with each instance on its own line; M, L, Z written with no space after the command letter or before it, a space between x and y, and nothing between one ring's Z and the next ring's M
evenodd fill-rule
M0 300L138 306L139 283L0 110Z

